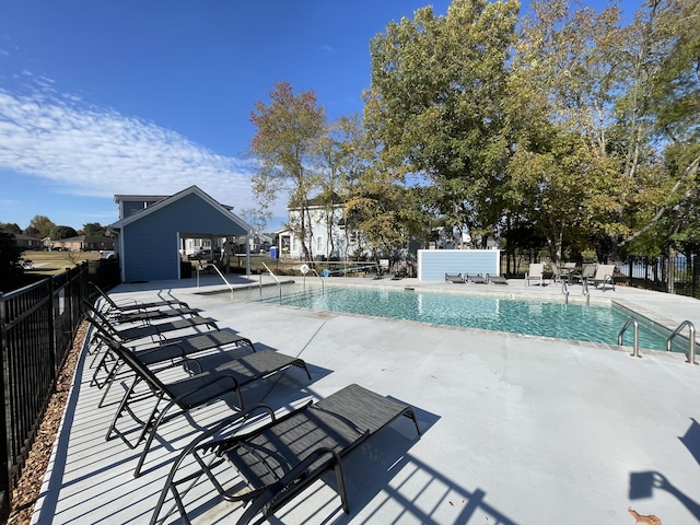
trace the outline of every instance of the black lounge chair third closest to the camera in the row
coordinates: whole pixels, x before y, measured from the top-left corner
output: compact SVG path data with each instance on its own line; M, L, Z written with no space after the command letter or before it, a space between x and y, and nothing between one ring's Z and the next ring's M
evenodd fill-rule
M103 334L103 337L109 336ZM209 350L218 349L225 351L225 348L231 346L235 346L235 348L246 346L254 352L256 351L250 339L242 337L230 329L185 336L177 340L168 341L167 343L150 348L129 348L129 350L131 350L143 364L149 366L151 370L154 370L158 365L165 366L166 364L183 362L191 359L194 355ZM104 352L103 358L97 363L90 382L90 386L96 386L100 389L105 389L100 402L97 404L98 408L104 406L109 388L124 365L124 361L121 361L114 352L109 351L109 348L107 347L107 351ZM104 378L101 377L101 373L104 373Z

